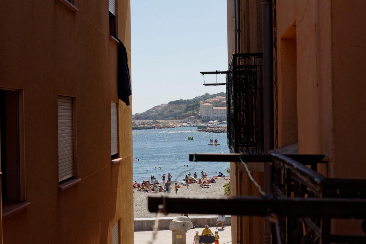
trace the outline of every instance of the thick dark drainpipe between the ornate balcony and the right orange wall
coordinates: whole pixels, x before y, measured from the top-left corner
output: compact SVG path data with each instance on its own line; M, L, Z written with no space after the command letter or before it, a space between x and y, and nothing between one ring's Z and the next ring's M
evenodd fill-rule
M272 40L272 9L268 0L262 1L263 27L263 107L264 107L264 152L273 149L273 40ZM264 166L264 189L271 193L271 166ZM270 244L271 224L264 223L264 244Z

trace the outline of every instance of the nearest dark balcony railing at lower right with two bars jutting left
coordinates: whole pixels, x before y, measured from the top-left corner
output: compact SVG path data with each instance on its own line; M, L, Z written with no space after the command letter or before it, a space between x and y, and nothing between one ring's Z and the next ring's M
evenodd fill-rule
M366 180L326 178L315 170L324 155L191 154L191 161L269 163L272 193L262 197L149 197L149 210L167 212L277 215L283 244L366 243L366 236L330 233L331 218L366 219ZM310 166L310 167L309 167ZM242 167L243 169L244 167ZM180 204L176 210L175 204ZM273 225L273 228L275 225ZM366 220L360 227L366 233ZM272 243L277 243L272 231Z

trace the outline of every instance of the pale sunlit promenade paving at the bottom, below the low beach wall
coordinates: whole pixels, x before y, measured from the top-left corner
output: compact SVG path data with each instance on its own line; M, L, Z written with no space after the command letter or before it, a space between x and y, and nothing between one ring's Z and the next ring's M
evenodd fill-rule
M198 234L202 233L203 228L194 228L187 230L186 240L187 244L193 243L193 236L195 231L198 230ZM210 230L214 233L215 230L219 230L219 244L231 243L231 226L225 226L225 229L216 229L215 226L210 227ZM146 244L152 237L152 231L135 231L135 244ZM156 244L172 244L172 232L171 230L159 230L158 236L155 240Z

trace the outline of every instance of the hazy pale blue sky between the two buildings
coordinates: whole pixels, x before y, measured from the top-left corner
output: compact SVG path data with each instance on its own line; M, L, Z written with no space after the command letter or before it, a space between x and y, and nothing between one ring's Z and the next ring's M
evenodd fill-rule
M131 0L133 114L225 91L199 71L227 70L226 18L224 0Z

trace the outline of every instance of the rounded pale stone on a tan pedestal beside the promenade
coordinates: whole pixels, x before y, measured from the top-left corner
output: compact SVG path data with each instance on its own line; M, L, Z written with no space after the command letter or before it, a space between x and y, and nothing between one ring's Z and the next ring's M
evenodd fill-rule
M172 231L172 244L186 244L186 231L192 229L191 219L185 216L177 217L170 222L169 230Z

